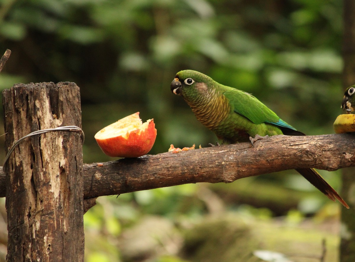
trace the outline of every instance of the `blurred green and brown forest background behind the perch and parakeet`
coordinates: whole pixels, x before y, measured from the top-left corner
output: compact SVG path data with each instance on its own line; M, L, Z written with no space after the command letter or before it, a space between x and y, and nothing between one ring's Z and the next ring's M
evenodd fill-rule
M116 160L102 153L94 134L137 111L143 122L154 118L157 128L149 154L170 144L215 143L170 92L182 69L252 93L301 132L330 134L342 113L342 26L338 0L0 0L0 52L12 51L0 89L75 82L84 163ZM339 190L340 172L320 173ZM86 262L261 261L271 255L258 258L257 249L316 261L323 238L327 261L337 261L339 204L295 171L97 202L84 216Z

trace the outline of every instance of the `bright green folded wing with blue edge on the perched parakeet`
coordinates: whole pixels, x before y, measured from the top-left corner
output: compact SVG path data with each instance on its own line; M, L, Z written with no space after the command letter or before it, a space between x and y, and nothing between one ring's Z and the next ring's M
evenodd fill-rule
M254 124L269 123L296 130L251 94L229 88L223 92L223 95L229 100L231 109L234 112L248 118Z

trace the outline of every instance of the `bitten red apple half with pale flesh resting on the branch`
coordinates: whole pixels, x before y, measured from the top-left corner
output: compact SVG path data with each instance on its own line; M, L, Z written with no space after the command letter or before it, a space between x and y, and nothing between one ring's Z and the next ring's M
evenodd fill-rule
M140 157L152 149L156 136L153 119L142 123L137 112L101 129L95 139L108 156Z

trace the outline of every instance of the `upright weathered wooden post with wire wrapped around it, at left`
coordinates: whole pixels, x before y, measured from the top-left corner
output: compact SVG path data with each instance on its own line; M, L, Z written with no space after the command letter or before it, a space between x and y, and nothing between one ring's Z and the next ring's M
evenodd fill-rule
M6 150L23 136L81 127L74 83L16 84L4 90ZM53 131L23 140L4 165L7 261L83 261L82 135Z

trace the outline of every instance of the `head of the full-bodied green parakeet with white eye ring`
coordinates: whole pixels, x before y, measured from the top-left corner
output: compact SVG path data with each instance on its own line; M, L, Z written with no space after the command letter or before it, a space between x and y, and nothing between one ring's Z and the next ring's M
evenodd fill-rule
M215 83L212 78L193 70L182 70L171 82L170 90L175 95L181 95L185 100L201 97L207 94L208 86Z

